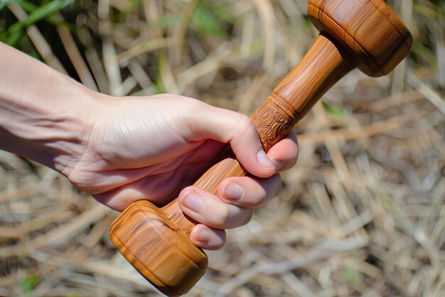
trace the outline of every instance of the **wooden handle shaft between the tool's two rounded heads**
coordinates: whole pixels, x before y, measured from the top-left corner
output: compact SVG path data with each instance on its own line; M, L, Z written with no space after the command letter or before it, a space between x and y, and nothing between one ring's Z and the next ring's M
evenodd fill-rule
M299 66L277 85L269 98L252 115L266 152L309 113L333 84L355 68L353 62L346 58L345 52L341 51L328 37L319 35ZM193 185L217 194L218 185L223 179L248 174L230 147L227 147L218 160ZM196 222L183 214L178 206L178 199L162 210L171 221L176 222L178 229L190 234Z

